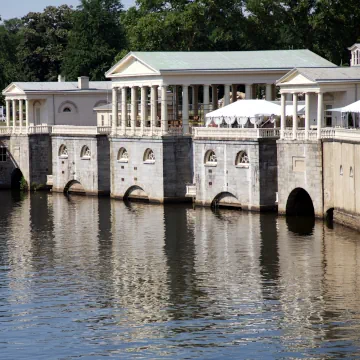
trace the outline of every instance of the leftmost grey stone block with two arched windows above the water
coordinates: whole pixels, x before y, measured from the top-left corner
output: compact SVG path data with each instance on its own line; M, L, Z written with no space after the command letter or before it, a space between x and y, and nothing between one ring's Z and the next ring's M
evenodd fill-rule
M62 151L66 147L66 152ZM89 152L86 154L85 149ZM110 151L107 136L52 136L53 191L86 195L110 193Z

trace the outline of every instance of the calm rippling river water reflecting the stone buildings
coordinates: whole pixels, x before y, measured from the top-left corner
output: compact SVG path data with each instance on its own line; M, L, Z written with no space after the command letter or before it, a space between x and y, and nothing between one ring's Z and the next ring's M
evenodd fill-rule
M360 358L360 235L0 192L1 359Z

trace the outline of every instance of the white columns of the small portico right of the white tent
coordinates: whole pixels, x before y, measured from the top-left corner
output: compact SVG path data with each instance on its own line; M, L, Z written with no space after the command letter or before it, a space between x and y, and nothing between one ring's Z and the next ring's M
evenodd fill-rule
M310 92L305 92L305 140L309 140L310 130ZM324 94L317 92L317 124L316 124L316 138L321 139L321 127L324 118ZM287 93L281 93L281 120L280 120L280 139L285 138L285 123L286 123L286 96ZM293 126L292 126L292 139L297 139L297 107L298 107L298 93L292 94L293 100Z

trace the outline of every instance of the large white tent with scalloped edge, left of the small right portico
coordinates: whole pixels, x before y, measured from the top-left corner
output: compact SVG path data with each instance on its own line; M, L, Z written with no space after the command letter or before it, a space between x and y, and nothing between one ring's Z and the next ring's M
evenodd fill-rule
M211 122L220 125L225 121L232 125L236 120L238 124L244 125L250 118L254 123L261 123L264 116L280 115L280 105L266 100L238 100L223 108L206 114L206 126Z

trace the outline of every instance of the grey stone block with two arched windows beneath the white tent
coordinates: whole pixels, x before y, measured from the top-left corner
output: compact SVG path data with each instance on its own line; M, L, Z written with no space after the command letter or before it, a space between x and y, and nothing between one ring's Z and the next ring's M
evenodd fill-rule
M216 164L208 162L208 152ZM240 153L249 163L236 163ZM195 140L194 182L196 204L241 207L247 210L275 210L277 152L275 140Z

